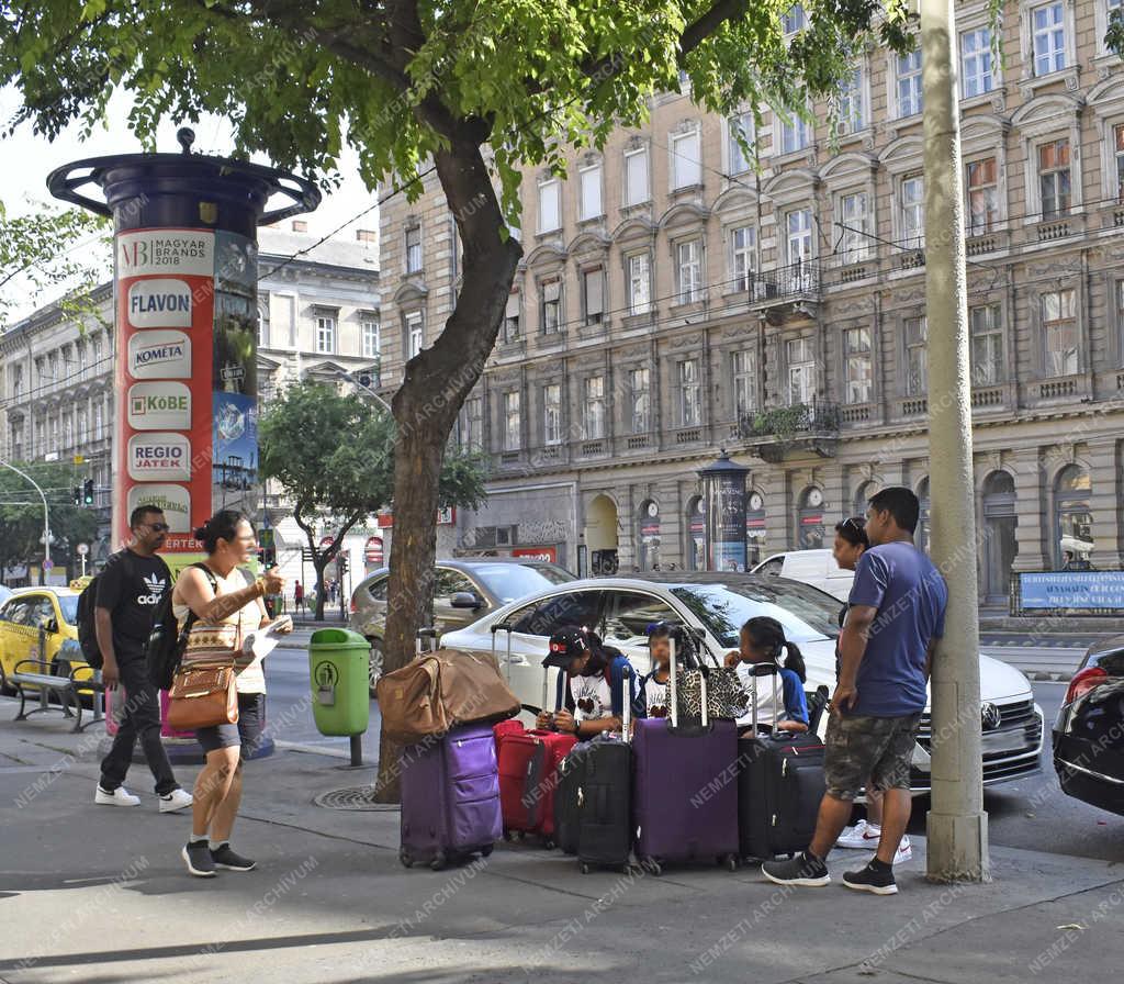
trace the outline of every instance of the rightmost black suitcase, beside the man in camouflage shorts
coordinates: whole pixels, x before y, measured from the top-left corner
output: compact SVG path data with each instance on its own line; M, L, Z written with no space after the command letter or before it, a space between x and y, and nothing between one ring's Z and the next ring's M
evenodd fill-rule
M762 666L753 675L753 721L756 681L777 674ZM755 730L755 729L754 729ZM742 857L772 858L804 850L816 830L824 796L824 744L814 732L746 737L737 742L737 825Z

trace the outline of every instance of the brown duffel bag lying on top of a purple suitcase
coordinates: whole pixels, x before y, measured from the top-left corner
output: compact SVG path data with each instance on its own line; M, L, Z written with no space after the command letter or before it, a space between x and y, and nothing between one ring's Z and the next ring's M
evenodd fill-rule
M438 649L387 674L375 687L382 730L404 743L457 724L504 721L519 713L496 658Z

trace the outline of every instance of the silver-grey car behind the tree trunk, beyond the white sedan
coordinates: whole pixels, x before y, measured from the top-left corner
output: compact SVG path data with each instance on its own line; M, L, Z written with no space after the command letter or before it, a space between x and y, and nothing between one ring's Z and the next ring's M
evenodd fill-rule
M510 602L544 588L574 580L565 568L541 560L506 557L438 560L434 585L434 628L438 638L482 619ZM353 632L371 643L371 696L382 675L382 638L387 630L387 592L390 568L368 575L352 592Z

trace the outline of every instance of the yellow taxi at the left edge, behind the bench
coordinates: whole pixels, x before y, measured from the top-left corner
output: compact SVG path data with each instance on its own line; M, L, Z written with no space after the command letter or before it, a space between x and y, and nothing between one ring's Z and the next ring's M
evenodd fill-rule
M78 644L78 596L71 588L21 588L0 605L0 670L2 687L24 659L44 659L65 676L85 666Z

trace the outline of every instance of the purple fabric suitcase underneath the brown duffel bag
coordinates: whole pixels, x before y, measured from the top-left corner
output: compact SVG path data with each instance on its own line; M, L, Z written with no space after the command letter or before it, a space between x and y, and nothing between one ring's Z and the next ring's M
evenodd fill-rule
M491 725L454 728L409 746L401 761L401 863L436 872L473 854L488 857L504 836Z

